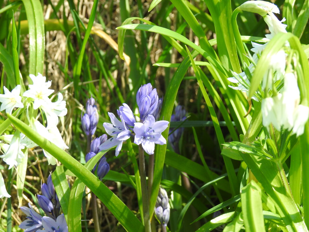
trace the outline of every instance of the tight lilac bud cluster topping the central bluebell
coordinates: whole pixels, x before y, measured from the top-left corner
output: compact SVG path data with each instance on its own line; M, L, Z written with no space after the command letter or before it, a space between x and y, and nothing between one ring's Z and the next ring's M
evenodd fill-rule
M157 89L152 89L150 83L142 85L136 94L136 102L138 105L141 122L145 120L147 115L152 115L158 107L159 97Z

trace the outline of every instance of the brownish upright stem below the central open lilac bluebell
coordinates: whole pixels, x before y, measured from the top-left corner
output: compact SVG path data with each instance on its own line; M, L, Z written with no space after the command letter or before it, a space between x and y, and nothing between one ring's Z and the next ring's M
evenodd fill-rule
M147 184L146 184L146 169L145 169L145 157L144 149L142 145L138 145L138 160L139 160L139 169L141 177L141 186L142 186L142 201L143 201L143 213L144 213L144 223L145 223L145 232L151 232L150 226L150 215L149 215L149 202L148 202L148 193L147 193Z

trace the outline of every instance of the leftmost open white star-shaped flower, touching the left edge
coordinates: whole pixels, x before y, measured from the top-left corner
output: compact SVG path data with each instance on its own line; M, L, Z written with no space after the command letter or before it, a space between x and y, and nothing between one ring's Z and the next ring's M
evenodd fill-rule
M2 102L0 111L5 110L6 113L12 114L12 110L15 107L23 108L21 102L20 85L16 85L12 92L10 92L5 86L3 86L4 94L0 94L0 102Z

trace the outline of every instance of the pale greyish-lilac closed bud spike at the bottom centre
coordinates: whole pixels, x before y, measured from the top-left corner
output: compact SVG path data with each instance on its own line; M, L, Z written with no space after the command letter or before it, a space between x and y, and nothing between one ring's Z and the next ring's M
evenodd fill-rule
M168 204L167 192L162 187L159 189L159 194L155 204L155 215L157 216L162 226L167 226L167 222L170 219L170 207Z

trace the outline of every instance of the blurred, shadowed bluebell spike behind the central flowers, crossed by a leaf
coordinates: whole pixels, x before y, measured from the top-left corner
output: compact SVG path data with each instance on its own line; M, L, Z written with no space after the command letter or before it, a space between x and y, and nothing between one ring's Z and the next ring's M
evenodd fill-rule
M186 110L184 110L184 107L182 105L177 105L175 108L175 114L171 115L171 122L179 122L184 121L186 119ZM174 131L173 128L170 128L169 133ZM180 140L180 137L184 131L184 128L180 127L177 128L172 134L168 136L168 141L170 142L172 148L176 151L178 150L178 142Z

